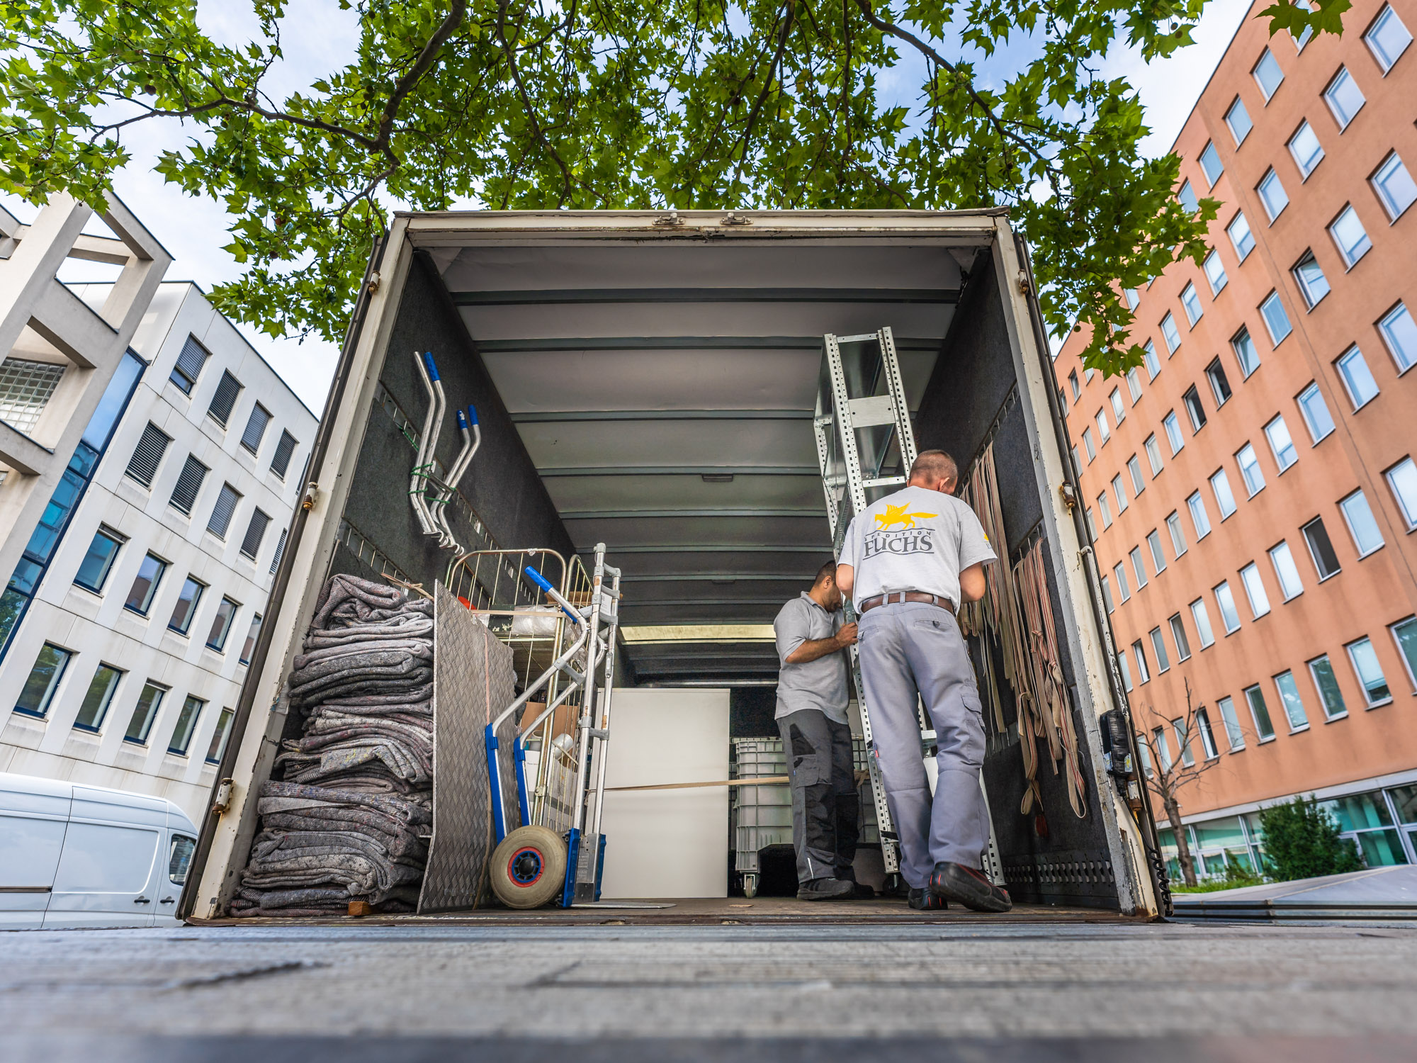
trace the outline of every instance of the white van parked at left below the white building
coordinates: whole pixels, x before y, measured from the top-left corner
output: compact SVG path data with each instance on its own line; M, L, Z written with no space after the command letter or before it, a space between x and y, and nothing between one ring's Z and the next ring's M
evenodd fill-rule
M0 930L176 924L196 845L164 798L0 772Z

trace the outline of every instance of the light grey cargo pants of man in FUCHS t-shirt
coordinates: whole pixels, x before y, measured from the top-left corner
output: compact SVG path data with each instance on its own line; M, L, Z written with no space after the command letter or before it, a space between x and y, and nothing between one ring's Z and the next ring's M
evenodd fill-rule
M989 816L979 789L983 710L954 615L928 602L877 605L860 618L862 686L905 882L921 889L935 863L982 867ZM915 696L935 726L934 802L920 750Z

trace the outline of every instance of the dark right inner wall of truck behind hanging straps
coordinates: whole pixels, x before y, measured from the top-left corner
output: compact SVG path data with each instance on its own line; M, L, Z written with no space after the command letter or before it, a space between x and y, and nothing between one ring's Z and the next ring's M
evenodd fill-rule
M948 451L959 462L964 475L998 421L993 459L1012 563L1017 560L1015 553L1037 529L1043 517L1043 502L1037 492L1033 446L1022 403L1012 403L999 415L1017 378L993 271L992 258L981 255L964 285L958 310L915 415L915 444L922 451ZM1044 541L1043 549L1051 551L1053 544ZM1046 557L1046 561L1053 615L1057 629L1063 631L1061 598L1051 557ZM1085 602L1080 605L1085 607ZM972 648L976 662L979 652L979 646ZM1077 679L1066 639L1058 641L1058 659L1068 689L1068 703L1076 714ZM1003 683L1002 660L999 665ZM1006 683L1003 686L1005 719L1015 723L1016 706ZM1087 748L1081 721L1074 719L1074 726L1083 774L1091 781L1095 778L1091 750ZM1087 816L1078 819L1068 805L1064 777L1053 772L1053 763L1041 743L1039 758L1037 782L1043 794L1047 836L1037 832L1033 814L1024 816L1019 812L1024 775L1016 729L1010 729L1009 737L993 737L985 755L989 811L1010 893L1015 900L1023 901L1115 909L1117 886L1111 874L1111 855L1095 787L1088 785Z

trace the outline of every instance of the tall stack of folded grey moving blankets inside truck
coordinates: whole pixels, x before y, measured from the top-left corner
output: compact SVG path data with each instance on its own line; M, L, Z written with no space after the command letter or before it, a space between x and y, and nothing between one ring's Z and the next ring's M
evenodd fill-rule
M305 716L261 787L235 916L412 911L432 832L434 605L354 575L320 592L285 696Z

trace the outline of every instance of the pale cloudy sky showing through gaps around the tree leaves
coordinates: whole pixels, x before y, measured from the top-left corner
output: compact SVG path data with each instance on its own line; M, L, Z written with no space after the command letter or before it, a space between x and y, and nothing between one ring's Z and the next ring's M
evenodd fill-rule
M1195 34L1196 44L1162 62L1144 64L1139 55L1125 50L1107 57L1101 74L1108 78L1128 78L1146 106L1148 125L1152 129L1144 143L1148 153L1159 154L1169 150L1248 7L1250 0L1210 0ZM215 40L232 45L252 40L259 28L247 0L200 0L198 21ZM272 71L271 95L279 99L315 78L337 69L353 52L357 40L356 14L353 10L340 10L337 0L292 0L282 23L285 62ZM1016 47L1023 50L1027 45L1023 43ZM904 48L901 54L904 58ZM1013 55L1000 54L993 62L982 65L981 72L988 77L990 67L1003 69L1003 64L1013 61L1016 61ZM914 103L922 69L922 64L903 62L884 77L883 88L887 92L894 91L900 102ZM129 133L126 143L133 160L119 174L116 190L173 254L174 262L167 271L167 278L196 281L204 289L234 279L238 266L231 255L221 249L230 241L225 230L231 223L221 204L187 197L152 171L157 153L180 146L191 135L190 128L184 130L174 123L152 126L139 123L132 126ZM33 207L11 197L3 197L0 203L21 221L34 217ZM106 279L91 275L86 272L89 269L89 264L72 262L61 276L74 281ZM272 339L258 334L248 326L238 327L306 405L319 412L334 373L339 356L336 346L317 339L303 343L293 339Z

